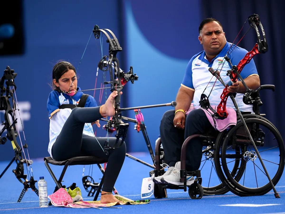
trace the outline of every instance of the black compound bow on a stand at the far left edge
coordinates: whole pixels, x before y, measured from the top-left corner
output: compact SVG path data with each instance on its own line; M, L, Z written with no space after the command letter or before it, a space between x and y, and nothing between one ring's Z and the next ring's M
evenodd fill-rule
M16 118L16 102L13 97L13 93L16 90L15 85L15 77L17 76L17 73L14 73L14 70L10 69L9 66L6 67L4 70L4 74L0 79L0 110L4 110L4 121L2 121L3 128L0 131L0 144L5 144L7 142L7 139L11 141L13 150L15 152L14 158L10 161L10 163L7 165L7 167L4 169L4 171L1 173L0 178L4 175L4 173L7 171L7 169L10 167L10 165L15 161L17 163L16 169L13 169L13 173L15 174L16 178L24 184L24 188L21 192L21 195L17 202L20 202L25 194L25 192L28 190L28 188L31 188L32 191L34 191L38 195L38 189L35 187L35 183L37 181L34 180L33 176L29 176L29 180L27 179L27 175L24 174L24 165L27 165L27 169L32 164L32 160L27 160L25 152L23 151L24 148L27 148L27 144L22 145L22 148L17 143L17 137L19 136L18 128L17 128L17 118ZM5 82L6 80L6 82ZM4 86L4 83L6 83L6 87ZM11 89L11 87L13 87ZM6 95L5 95L6 92ZM10 100L12 101L12 107L10 104ZM11 120L10 120L11 118ZM7 130L7 134L5 137L2 137L3 132ZM20 136L19 136L20 137ZM21 141L21 137L20 137ZM23 154L24 158L23 158ZM29 171L29 169L28 169ZM31 170L32 171L32 170Z

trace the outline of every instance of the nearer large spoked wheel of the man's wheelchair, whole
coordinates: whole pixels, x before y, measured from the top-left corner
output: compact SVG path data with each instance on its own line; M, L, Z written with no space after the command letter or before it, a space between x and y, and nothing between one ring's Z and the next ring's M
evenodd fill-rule
M245 123L250 131L258 154L250 141L248 133L241 120L231 128L224 139L219 142L221 148L220 160L215 160L215 167L229 190L239 196L264 195L272 186L269 183L260 158L275 186L284 170L284 142L278 130L266 118L259 115L244 115ZM237 154L237 150L239 150ZM235 179L235 174L229 168L231 162L240 160L243 169L242 179ZM221 167L222 166L222 167Z

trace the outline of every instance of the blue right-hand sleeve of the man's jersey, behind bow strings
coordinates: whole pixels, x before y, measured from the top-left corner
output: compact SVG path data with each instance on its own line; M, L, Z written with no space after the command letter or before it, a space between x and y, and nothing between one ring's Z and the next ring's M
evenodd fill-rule
M245 49L239 49L237 51L233 51L233 53L231 53L232 65L238 65L240 60L242 60L245 57L245 54L247 53L248 51ZM251 61L243 67L243 70L241 71L240 74L243 79L251 75L258 75L253 59L251 59Z

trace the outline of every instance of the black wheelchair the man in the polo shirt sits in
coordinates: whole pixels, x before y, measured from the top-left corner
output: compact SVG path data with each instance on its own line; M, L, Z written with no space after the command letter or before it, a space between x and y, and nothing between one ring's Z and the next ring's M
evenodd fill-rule
M274 196L279 198L275 185L284 170L285 148L282 136L276 127L265 118L265 114L260 114L259 107L262 102L259 92L263 89L275 91L275 86L262 85L253 92L251 98L254 113L241 112L242 118L237 114L235 126L222 132L215 131L189 136L184 141L181 150L180 182L184 185L154 184L154 197L167 197L166 189L184 189L186 191L186 176L190 175L196 177L194 183L188 186L188 193L192 199L201 199L203 195L222 195L228 191L238 196L264 195L272 189ZM244 120L251 136L247 134L242 120ZM196 171L186 171L186 147L193 138L200 138L203 146L201 165ZM160 144L159 140L155 147L155 169L150 172L150 176L152 173L155 177L164 174L163 158L160 158L163 151L160 149ZM268 148L270 145L271 147ZM274 160L262 158L266 152ZM204 173L204 175L209 175L209 181L205 182L206 185L202 185L201 170L207 162L212 166L210 175L209 169L206 169L207 172ZM267 166L269 164L269 167L266 168L265 162ZM213 172L217 175L219 183L210 185ZM246 175L252 175L253 178L245 179Z

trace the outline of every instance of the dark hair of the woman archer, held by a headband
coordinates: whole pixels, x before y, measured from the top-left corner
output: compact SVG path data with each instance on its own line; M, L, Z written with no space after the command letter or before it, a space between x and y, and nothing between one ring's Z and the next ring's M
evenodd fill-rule
M74 66L66 61L60 61L56 63L52 69L52 89L53 90L60 90L59 87L56 87L53 80L55 79L58 82L59 78L66 73L68 70L74 70L76 72Z

